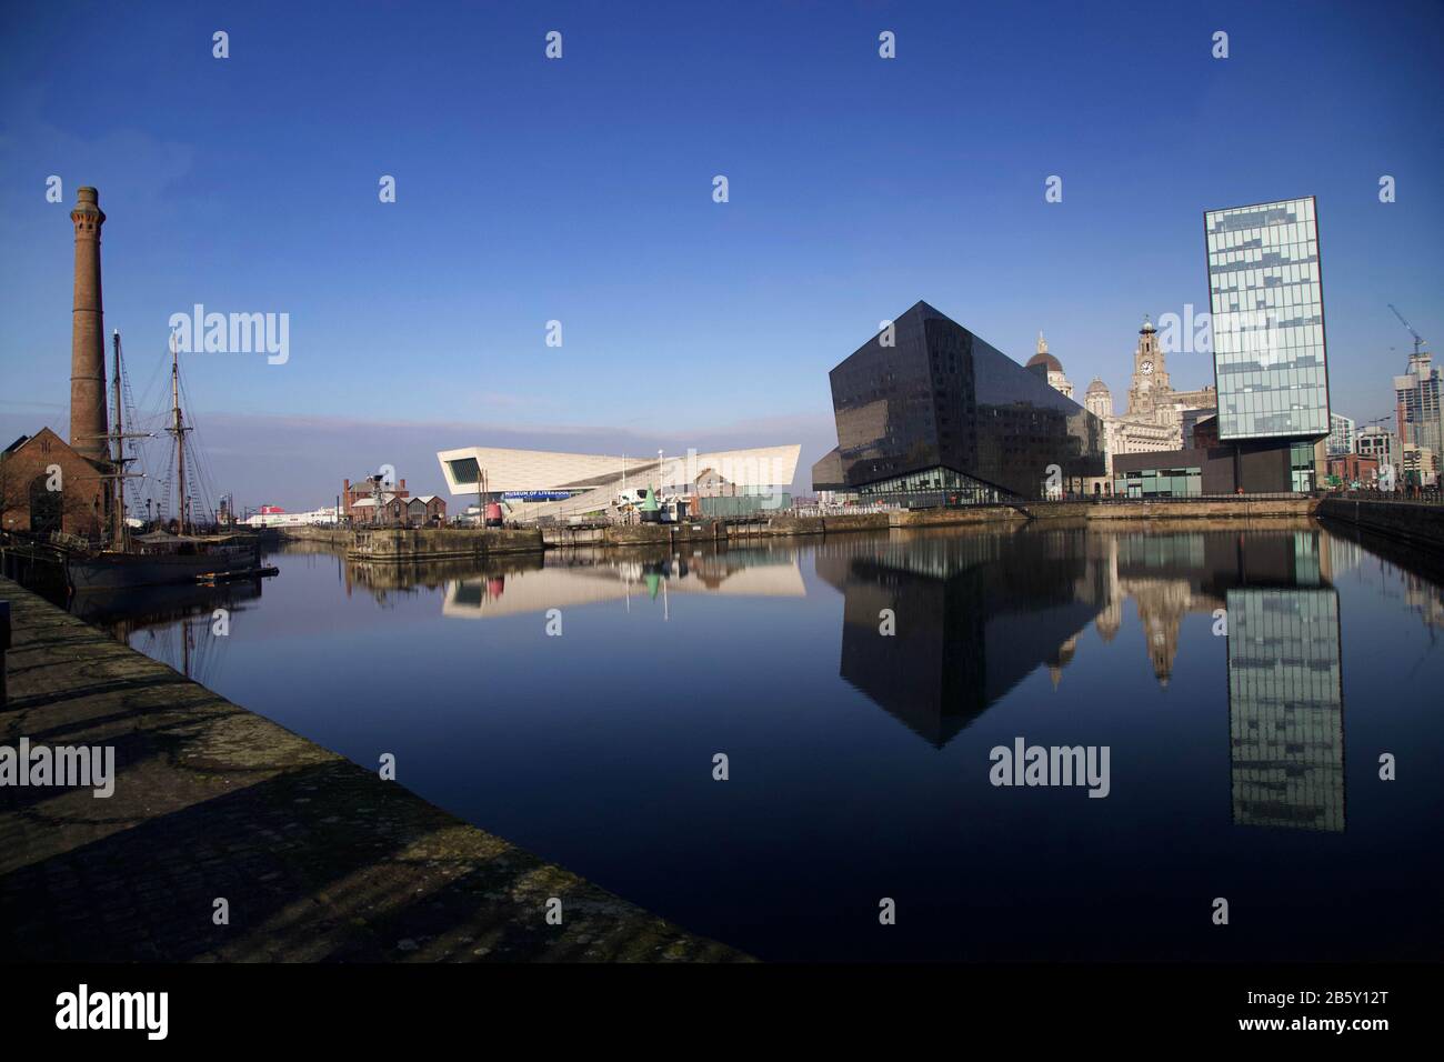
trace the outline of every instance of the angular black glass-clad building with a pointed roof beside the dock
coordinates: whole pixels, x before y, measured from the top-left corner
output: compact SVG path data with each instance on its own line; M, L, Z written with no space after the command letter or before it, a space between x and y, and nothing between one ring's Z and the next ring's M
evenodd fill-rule
M1045 377L926 302L890 331L829 373L838 448L813 490L970 503L1103 475L1103 422Z

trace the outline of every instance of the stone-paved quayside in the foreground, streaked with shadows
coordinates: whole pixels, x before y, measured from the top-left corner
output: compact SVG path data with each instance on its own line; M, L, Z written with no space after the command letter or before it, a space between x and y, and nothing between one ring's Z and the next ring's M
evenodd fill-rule
M0 787L0 961L745 961L240 708L9 579L0 744L114 746L116 792ZM563 925L546 923L562 899ZM230 925L212 922L230 902Z

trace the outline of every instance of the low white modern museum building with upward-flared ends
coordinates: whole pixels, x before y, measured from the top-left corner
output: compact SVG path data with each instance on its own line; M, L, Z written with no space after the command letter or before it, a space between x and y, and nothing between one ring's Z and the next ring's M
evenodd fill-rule
M567 516L606 509L621 491L653 487L679 494L781 494L797 474L800 445L680 457L608 457L542 449L462 446L438 451L446 488L482 494L520 516Z

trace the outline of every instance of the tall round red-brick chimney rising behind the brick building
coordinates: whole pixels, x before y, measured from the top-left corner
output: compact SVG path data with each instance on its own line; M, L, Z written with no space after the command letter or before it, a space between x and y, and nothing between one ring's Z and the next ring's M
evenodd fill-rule
M105 331L100 296L100 227L105 214L94 188L81 188L71 210L75 223L75 301L71 315L71 446L107 459Z

